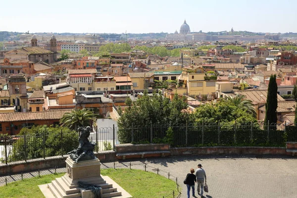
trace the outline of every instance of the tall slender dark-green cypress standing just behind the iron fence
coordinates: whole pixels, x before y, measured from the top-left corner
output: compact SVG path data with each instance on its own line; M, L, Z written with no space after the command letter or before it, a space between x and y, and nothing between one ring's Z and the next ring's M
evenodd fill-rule
M271 75L268 84L267 100L265 104L265 120L264 123L277 123L277 84L276 75Z

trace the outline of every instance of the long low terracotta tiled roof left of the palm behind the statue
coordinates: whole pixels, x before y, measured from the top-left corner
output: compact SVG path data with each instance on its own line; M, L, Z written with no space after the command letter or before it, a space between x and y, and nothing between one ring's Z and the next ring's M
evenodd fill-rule
M0 113L0 122L15 122L29 120L58 120L65 113L71 112L73 109L58 109L37 112L9 112Z

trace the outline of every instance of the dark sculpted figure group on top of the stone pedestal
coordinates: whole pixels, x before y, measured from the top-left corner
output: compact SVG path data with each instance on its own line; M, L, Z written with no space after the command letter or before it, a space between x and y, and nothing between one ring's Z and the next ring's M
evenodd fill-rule
M80 136L78 138L79 146L67 154L70 154L70 158L76 163L78 163L78 161L95 159L94 149L96 143L90 143L88 139L90 136L91 127L79 127L77 130L80 132Z

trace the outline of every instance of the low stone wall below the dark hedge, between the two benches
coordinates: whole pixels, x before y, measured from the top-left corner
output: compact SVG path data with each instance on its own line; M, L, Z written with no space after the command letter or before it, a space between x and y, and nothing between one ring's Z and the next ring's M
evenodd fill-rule
M184 147L170 148L171 155L290 155L284 147Z

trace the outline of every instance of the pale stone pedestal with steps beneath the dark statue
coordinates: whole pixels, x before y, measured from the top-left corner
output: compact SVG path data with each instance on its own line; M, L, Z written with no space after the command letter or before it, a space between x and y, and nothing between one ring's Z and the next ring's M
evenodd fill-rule
M40 185L46 198L95 198L91 190L79 188L78 182L85 182L101 187L101 197L131 198L124 189L109 177L100 175L100 160L98 158L79 161L78 164L69 157L66 159L66 174L51 181L50 184ZM115 188L114 188L115 187Z

